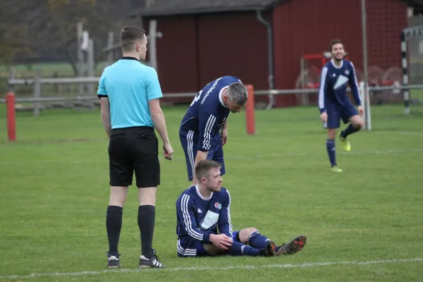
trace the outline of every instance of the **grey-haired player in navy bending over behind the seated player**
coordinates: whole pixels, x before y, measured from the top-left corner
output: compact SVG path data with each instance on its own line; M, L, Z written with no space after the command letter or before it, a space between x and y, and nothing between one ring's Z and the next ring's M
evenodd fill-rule
M240 79L223 76L209 82L190 104L180 123L179 137L192 185L197 183L194 168L203 159L218 161L221 174L226 173L223 145L228 141L228 116L240 113L247 97L247 87Z

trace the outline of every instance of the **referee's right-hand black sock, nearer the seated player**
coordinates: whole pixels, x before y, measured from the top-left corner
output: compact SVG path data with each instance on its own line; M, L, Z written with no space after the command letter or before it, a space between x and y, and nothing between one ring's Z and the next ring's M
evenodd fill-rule
M156 207L146 205L138 207L138 227L141 235L141 255L148 259L153 256L154 223Z

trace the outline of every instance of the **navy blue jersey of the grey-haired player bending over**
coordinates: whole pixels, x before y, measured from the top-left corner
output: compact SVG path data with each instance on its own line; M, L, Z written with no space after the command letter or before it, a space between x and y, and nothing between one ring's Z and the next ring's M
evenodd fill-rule
M200 151L209 151L212 140L225 123L231 111L223 104L221 93L239 78L223 76L206 85L190 104L180 123L180 130L192 130L198 136Z

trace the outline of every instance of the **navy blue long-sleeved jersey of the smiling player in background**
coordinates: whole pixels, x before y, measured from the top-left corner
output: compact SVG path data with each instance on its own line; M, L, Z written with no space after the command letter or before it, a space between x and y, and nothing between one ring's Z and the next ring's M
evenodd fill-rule
M343 107L350 103L350 99L347 96L347 85L350 85L355 103L360 106L360 92L353 63L343 60L341 66L336 66L331 60L324 65L321 69L319 86L320 113L326 111L326 104L328 103L338 107Z

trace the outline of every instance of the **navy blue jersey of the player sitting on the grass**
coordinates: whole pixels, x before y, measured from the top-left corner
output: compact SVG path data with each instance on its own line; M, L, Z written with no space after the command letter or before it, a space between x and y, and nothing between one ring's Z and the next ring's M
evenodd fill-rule
M176 200L176 235L183 248L195 243L210 243L210 234L224 233L232 238L231 195L221 188L204 198L198 186L183 191Z

